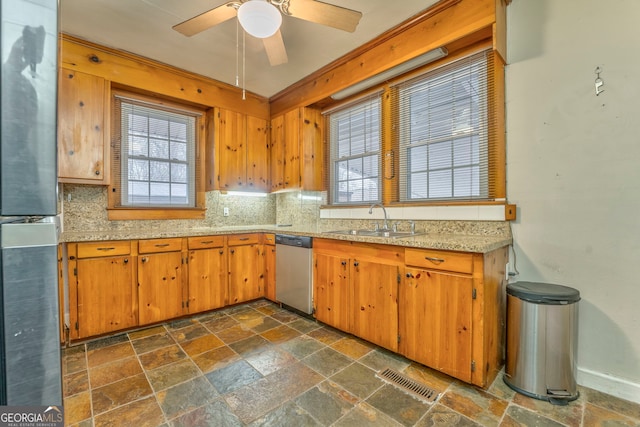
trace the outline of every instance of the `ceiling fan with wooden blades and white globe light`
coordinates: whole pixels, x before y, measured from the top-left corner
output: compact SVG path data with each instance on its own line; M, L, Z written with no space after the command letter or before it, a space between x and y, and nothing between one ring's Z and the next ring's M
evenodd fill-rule
M362 13L316 0L232 0L173 26L191 37L235 16L250 35L262 39L269 63L288 61L280 33L282 15L354 32Z

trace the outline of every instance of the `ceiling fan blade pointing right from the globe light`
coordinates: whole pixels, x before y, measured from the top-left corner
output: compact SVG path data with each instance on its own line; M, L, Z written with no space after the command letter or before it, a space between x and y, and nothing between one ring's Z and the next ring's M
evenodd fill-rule
M356 10L315 0L291 0L289 13L296 18L353 33L362 18Z

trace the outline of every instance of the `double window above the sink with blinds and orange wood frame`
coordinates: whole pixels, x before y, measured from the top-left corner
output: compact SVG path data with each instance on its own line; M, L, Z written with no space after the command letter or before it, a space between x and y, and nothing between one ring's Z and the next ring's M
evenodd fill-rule
M504 82L495 55L400 76L382 95L326 113L329 203L503 200Z

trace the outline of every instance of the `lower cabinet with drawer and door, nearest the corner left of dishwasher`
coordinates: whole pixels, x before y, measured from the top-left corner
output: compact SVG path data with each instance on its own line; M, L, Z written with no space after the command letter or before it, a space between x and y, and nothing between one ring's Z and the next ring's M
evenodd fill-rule
M229 304L264 296L261 246L259 234L228 237Z

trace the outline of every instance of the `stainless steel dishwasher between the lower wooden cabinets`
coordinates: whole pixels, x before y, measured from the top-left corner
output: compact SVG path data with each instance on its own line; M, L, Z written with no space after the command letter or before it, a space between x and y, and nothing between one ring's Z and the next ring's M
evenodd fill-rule
M302 313L313 312L313 239L276 234L276 299Z

